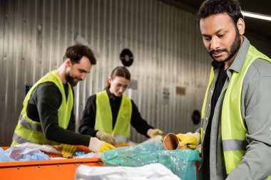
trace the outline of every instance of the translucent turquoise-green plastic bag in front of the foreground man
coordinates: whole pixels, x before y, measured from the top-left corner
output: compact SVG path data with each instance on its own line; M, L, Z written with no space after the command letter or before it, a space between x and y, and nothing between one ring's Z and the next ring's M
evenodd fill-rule
M106 165L144 166L160 163L171 169L182 180L196 179L196 161L202 161L198 150L165 150L162 142L119 147L103 152L101 159Z

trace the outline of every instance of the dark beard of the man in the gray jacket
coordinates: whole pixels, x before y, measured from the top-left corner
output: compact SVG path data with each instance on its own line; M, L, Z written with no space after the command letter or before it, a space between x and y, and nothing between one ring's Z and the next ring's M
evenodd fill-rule
M226 48L224 48L224 49L212 50L209 52L209 54L213 58L213 53L227 52L229 55L227 56L227 58L225 58L225 60L222 61L223 63L225 63L237 53L240 46L241 46L241 38L239 36L237 29L235 28L235 41L232 43L232 46L230 46L230 52L227 51ZM213 58L213 60L215 60L215 58Z

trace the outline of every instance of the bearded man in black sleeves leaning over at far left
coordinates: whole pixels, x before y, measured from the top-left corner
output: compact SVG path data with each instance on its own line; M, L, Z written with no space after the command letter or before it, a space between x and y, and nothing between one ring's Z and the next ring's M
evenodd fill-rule
M87 46L68 47L60 67L44 75L27 93L11 146L31 142L84 145L94 152L114 149L96 137L75 132L72 87L85 80L95 64Z

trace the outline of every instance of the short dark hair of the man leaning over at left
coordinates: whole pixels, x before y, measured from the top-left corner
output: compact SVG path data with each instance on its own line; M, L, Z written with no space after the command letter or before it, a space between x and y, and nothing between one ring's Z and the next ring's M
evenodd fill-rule
M93 55L91 48L88 48L88 46L84 46L82 44L76 44L74 46L68 47L66 49L63 60L66 60L66 58L70 58L71 63L79 63L83 56L86 56L86 58L89 59L91 65L96 65L97 60Z

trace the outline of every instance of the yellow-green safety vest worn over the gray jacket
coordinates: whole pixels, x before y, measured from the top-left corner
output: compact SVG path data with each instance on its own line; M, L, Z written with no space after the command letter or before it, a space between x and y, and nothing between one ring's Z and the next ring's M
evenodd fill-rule
M241 114L242 82L247 70L250 68L250 65L257 58L267 60L271 63L270 58L260 53L260 51L257 51L256 48L250 45L240 73L235 71L232 73L230 83L227 87L227 91L225 92L221 115L221 133L227 174L230 174L230 172L237 167L246 152L247 141L245 135L247 134L247 128L244 125ZM203 102L202 119L205 118L208 92L210 85L213 83L213 79L214 70L212 68L210 72L210 81ZM201 140L202 138L203 127L201 127ZM269 176L268 179L270 178L271 177Z

